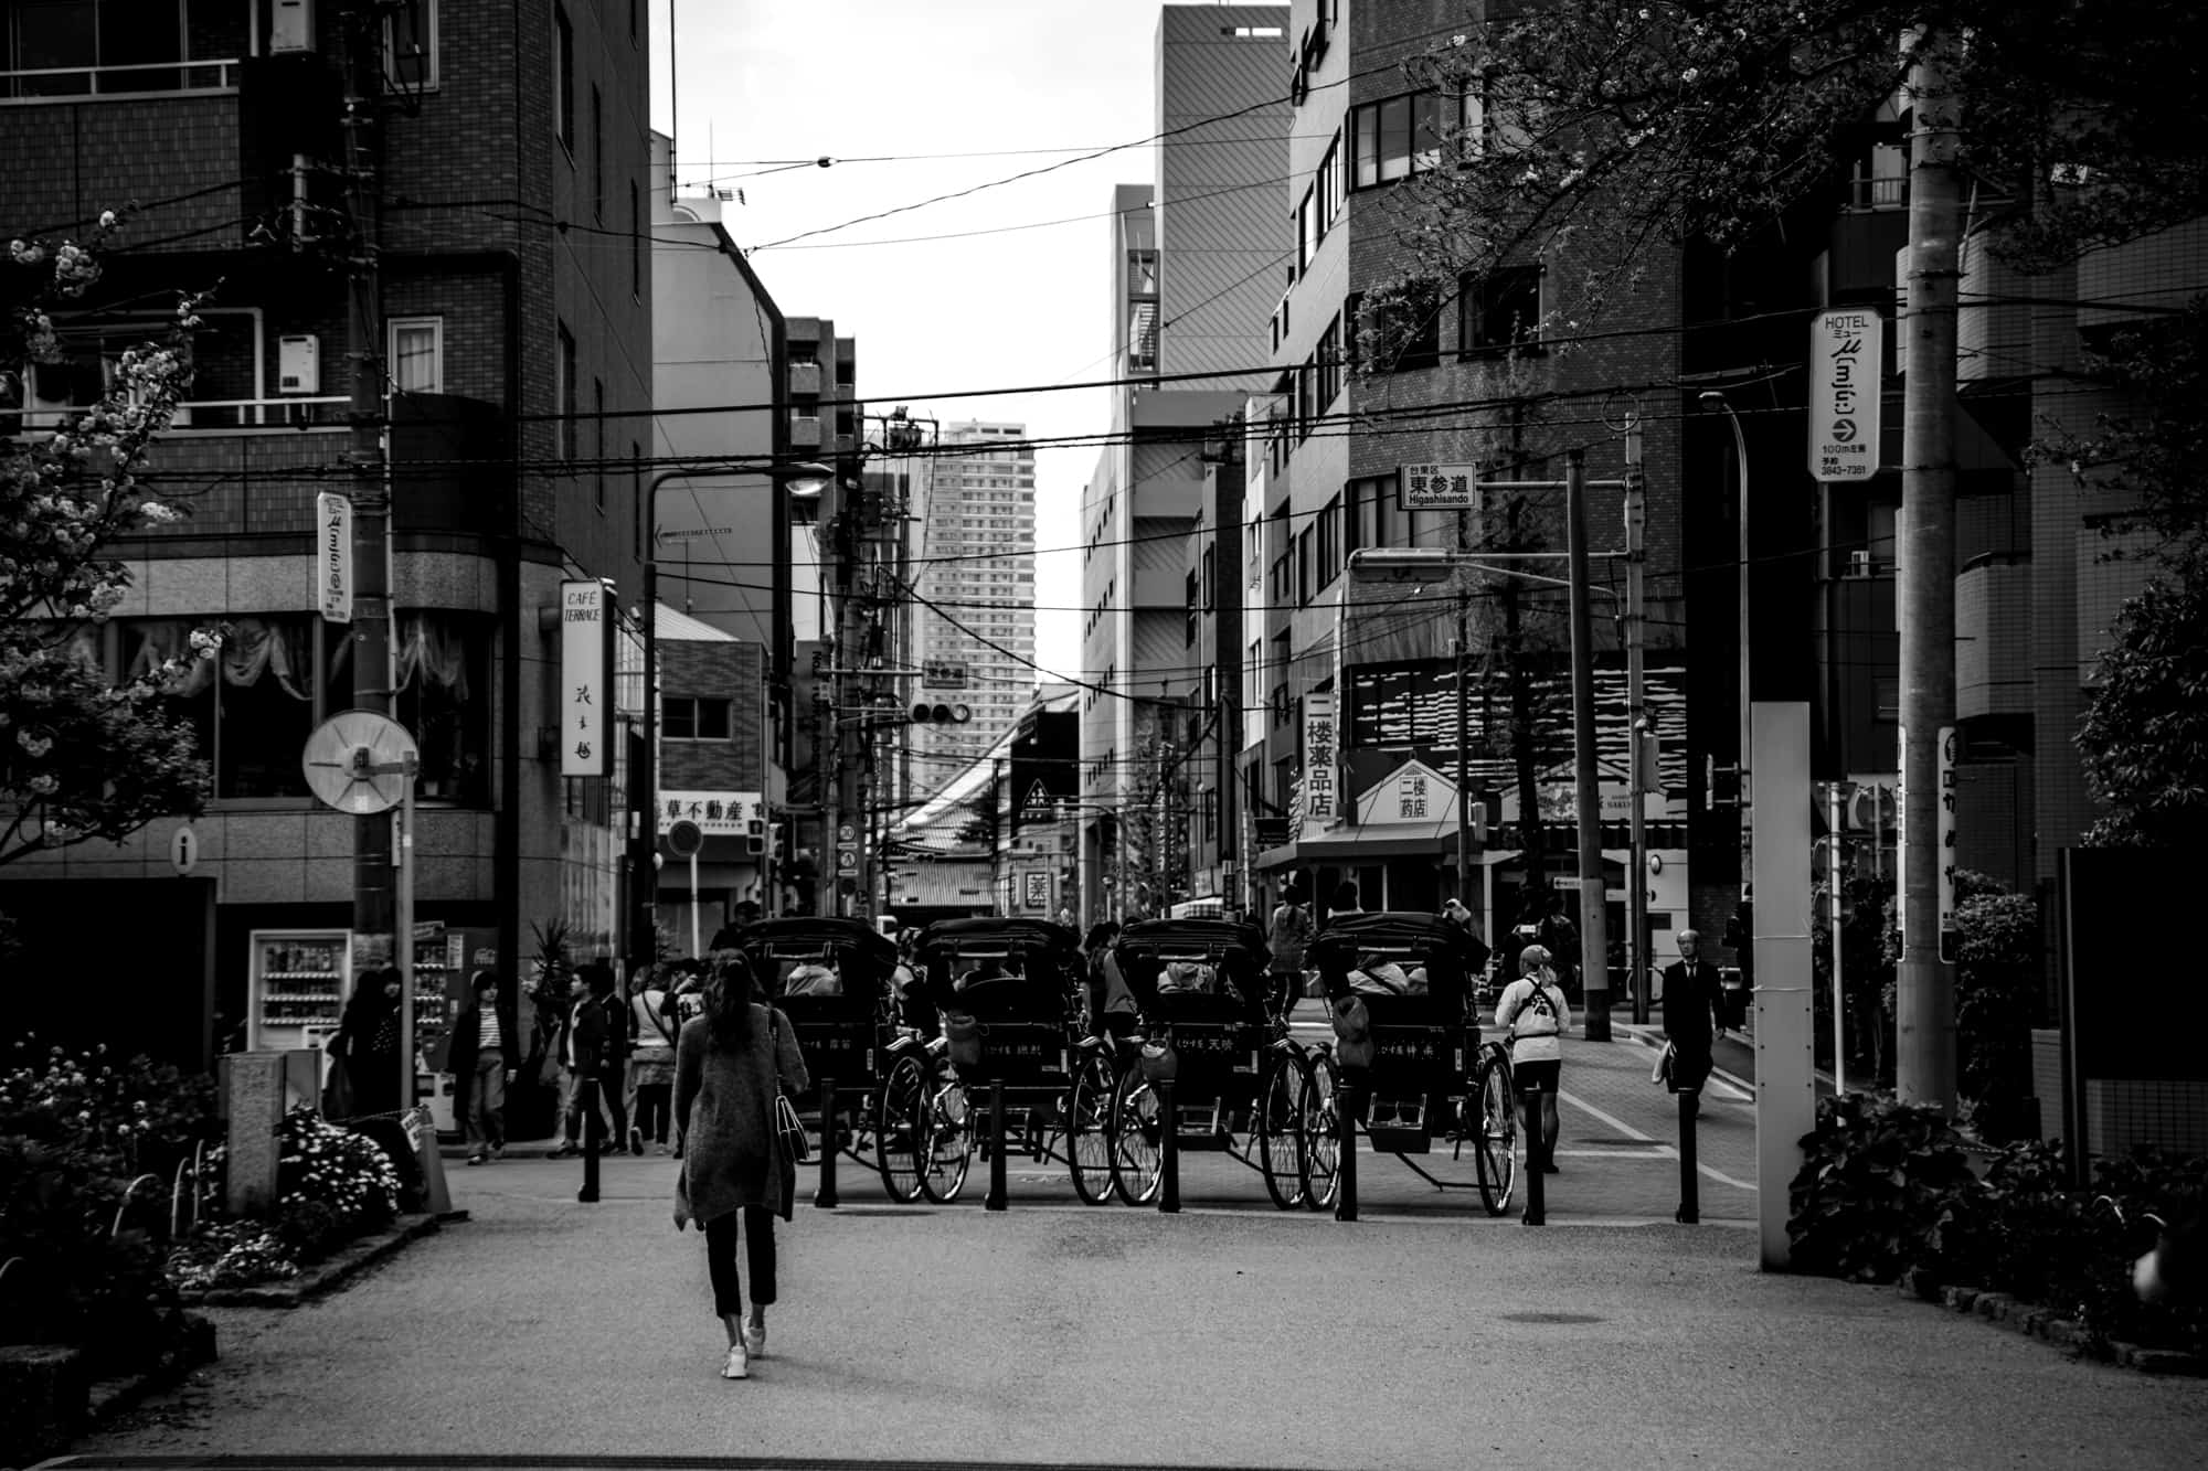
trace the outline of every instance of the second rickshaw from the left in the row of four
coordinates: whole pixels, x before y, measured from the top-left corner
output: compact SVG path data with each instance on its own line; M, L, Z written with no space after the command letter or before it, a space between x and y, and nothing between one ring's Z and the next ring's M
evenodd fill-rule
M943 1018L945 1049L914 1111L921 1190L956 1199L976 1137L1007 1131L985 1109L991 1096L1020 1115L1033 1160L1062 1160L1073 1190L1111 1197L1113 1047L1080 1027L1082 952L1073 930L1040 919L938 919L921 932L927 1005ZM985 1129L987 1124L987 1129ZM985 1149L996 1151L987 1137ZM1062 1149L1060 1149L1062 1146ZM989 1206L1002 1206L1002 1151L989 1153Z

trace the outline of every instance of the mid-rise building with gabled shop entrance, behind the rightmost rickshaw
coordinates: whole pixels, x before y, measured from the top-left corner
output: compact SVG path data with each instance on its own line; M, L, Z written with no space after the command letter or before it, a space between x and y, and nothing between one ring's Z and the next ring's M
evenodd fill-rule
M1572 736L1565 696L1565 623L1554 579L1517 576L1539 563L1493 561L1475 572L1404 574L1362 583L1365 550L1554 554L1563 550L1563 451L1585 448L1596 554L1623 548L1623 417L1638 411L1649 490L1649 707L1663 740L1665 800L1649 800L1652 850L1665 861L1652 921L1685 925L1689 731L1674 634L1680 599L1685 499L1674 393L1678 272L1649 269L1612 303L1614 331L1548 342L1574 316L1570 261L1512 261L1486 278L1424 294L1400 283L1431 272L1413 234L1404 183L1442 168L1453 148L1497 146L1497 119L1455 95L1418 88L1400 62L1424 53L1444 24L1440 4L1296 0L1283 73L1294 77L1289 287L1270 342L1274 398L1250 404L1245 504L1243 802L1265 883L1254 908L1292 875L1320 903L1354 879L1365 908L1435 910L1455 890L1457 789L1499 817L1471 855L1466 903L1499 928L1515 919L1528 875L1574 872ZM1367 305L1367 300L1373 305ZM1382 309L1380 303L1387 303ZM1532 400L1579 402L1618 384L1612 424L1572 413L1552 422ZM1634 387L1643 384L1643 387ZM1457 510L1429 486L1448 479L1528 481L1473 493ZM1550 486L1554 481L1554 486ZM1561 572L1561 559L1543 568ZM1420 603L1420 618L1387 621ZM1378 610L1378 612L1376 612ZM1459 612L1462 610L1462 612ZM1415 612L1415 610L1413 610ZM1603 607L1610 614L1612 607ZM1603 850L1612 932L1623 934L1630 793L1623 658L1610 616L1599 618ZM1515 629L1515 638L1510 638ZM1466 660L1459 680L1457 641ZM1512 700L1512 691L1532 698ZM1468 709L1459 744L1455 711ZM1532 822L1521 791L1537 789ZM1471 817L1471 813L1466 813ZM1466 822L1471 826L1471 822Z

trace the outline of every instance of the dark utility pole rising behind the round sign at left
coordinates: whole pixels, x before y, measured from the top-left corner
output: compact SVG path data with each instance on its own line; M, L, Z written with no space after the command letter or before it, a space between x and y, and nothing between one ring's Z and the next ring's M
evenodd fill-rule
M353 709L391 713L391 479L384 417L384 314L378 276L380 183L378 97L384 80L382 27L367 0L344 7L344 360L351 428L347 462L353 501ZM353 967L397 965L397 897L391 815L353 819ZM408 1038L411 1040L411 1038ZM402 1049L404 1051L404 1049ZM400 1102L411 1104L413 1098Z

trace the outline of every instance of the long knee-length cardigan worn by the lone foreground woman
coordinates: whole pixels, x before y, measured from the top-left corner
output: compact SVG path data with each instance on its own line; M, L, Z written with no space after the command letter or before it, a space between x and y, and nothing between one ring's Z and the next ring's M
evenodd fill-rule
M773 1020L768 1020L773 1018ZM782 1082L793 1093L813 1087L790 1018L753 1003L751 1045L722 1049L704 1016L682 1023L676 1038L676 1124L682 1129L682 1175L676 1226L704 1226L740 1206L782 1215L788 1195L775 1160L775 1040Z

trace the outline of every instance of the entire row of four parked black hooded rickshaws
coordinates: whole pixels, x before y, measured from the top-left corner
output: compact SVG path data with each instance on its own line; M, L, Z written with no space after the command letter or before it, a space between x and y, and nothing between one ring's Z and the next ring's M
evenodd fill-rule
M949 1204L976 1157L1005 1206L1013 1153L1066 1168L1093 1206L1177 1206L1179 1155L1248 1166L1283 1210L1336 1204L1365 1135L1435 1188L1510 1206L1517 1111L1501 1043L1482 1043L1475 945L1433 914L1345 914L1312 945L1331 1036L1289 1025L1256 930L1225 919L1126 925L1111 945L1135 1009L1111 1009L1062 925L947 919L905 961L859 919L726 930L790 1018L817 1082L817 1204L837 1160L892 1202ZM1464 1171L1420 1164L1446 1151Z

